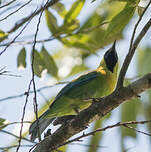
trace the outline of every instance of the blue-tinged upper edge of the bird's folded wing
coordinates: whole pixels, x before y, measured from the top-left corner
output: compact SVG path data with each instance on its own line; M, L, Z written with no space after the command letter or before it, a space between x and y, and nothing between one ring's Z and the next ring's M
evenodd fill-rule
M76 88L79 88L80 86L84 86L86 84L88 84L88 82L91 82L92 80L94 80L95 78L98 77L98 72L93 71L90 72L88 74L82 75L79 78L71 81L68 85L66 85L56 96L55 100L57 100L58 98L60 98L62 95L67 95L69 94L69 92L76 90ZM87 89L87 88L86 88ZM79 90L80 91L80 90ZM54 100L54 101L55 101Z

